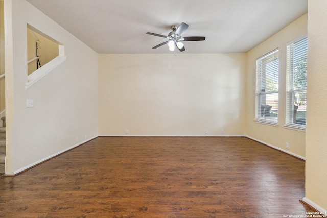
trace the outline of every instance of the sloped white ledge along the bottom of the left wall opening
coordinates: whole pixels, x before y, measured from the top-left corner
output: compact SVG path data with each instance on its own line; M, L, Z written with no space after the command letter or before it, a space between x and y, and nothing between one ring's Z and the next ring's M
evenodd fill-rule
M49 72L51 72L54 68L63 63L66 59L67 56L57 56L49 63L44 64L41 68L32 72L32 74L27 76L27 83L25 84L25 88L28 89L31 87L34 83L39 81L42 77L49 74Z

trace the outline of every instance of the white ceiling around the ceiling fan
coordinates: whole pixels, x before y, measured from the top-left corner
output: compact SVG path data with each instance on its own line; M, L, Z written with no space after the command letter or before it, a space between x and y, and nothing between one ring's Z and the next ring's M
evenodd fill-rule
M153 46L189 25L183 53L243 53L307 13L307 0L28 0L98 53L171 53Z

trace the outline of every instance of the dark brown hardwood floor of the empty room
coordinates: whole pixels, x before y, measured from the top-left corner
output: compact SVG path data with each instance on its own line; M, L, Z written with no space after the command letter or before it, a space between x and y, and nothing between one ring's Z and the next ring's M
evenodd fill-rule
M0 217L306 215L305 162L243 137L98 137L0 177ZM285 216L284 216L285 215Z

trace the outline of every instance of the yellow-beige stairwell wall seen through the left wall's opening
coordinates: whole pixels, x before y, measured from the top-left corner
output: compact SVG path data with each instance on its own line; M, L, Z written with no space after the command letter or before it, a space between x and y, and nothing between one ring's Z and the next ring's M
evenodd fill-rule
M36 41L33 33L27 28L27 60L31 60L36 56L36 42L41 67L59 55L59 45L44 36L34 32L38 41ZM37 69L36 60L28 64L28 75Z

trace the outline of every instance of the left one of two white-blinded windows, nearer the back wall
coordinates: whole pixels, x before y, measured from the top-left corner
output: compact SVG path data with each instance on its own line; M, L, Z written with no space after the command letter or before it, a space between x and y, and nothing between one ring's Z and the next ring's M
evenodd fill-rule
M278 49L256 60L255 118L277 124L278 117Z

